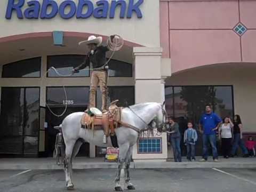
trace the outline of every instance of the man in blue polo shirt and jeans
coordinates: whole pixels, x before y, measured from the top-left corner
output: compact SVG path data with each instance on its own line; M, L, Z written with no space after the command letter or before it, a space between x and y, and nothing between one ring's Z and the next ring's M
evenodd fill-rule
M213 161L218 162L218 151L216 147L216 130L219 129L221 118L212 112L209 105L205 106L205 114L199 122L199 131L203 133L203 158L202 162L207 161L209 143L212 147ZM203 128L203 129L202 129Z

